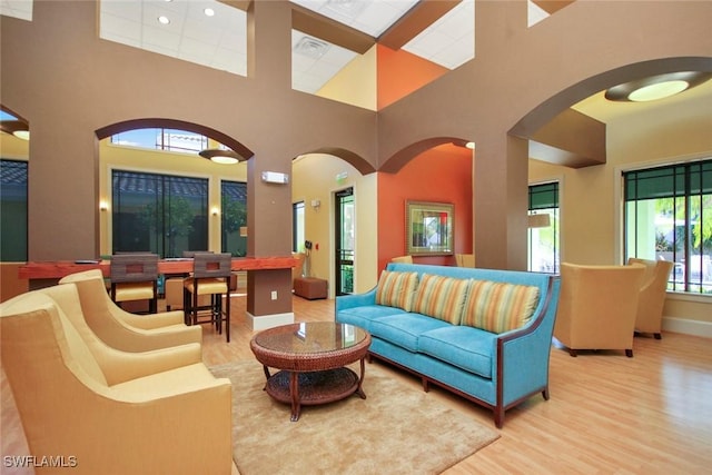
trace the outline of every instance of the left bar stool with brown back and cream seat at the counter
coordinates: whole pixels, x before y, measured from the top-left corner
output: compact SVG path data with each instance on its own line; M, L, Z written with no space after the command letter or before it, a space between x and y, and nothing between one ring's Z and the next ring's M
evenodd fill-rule
M148 313L158 311L158 255L116 254L110 263L111 300L148 300Z

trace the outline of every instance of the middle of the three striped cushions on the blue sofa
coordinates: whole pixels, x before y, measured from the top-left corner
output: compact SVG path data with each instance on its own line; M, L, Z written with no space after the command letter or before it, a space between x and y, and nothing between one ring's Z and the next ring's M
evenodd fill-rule
M423 274L413 311L459 325L468 279Z

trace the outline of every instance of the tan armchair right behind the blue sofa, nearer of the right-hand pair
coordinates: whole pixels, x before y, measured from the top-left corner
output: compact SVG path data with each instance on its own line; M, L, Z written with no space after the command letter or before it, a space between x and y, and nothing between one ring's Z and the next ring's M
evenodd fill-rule
M645 268L562 263L554 337L568 348L625 349L633 356L637 295Z

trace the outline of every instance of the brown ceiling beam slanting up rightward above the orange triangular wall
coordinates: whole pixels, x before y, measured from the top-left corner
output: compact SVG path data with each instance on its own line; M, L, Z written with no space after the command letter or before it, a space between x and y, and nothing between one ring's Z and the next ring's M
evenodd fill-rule
M378 43L399 50L459 2L461 0L421 0L378 38Z

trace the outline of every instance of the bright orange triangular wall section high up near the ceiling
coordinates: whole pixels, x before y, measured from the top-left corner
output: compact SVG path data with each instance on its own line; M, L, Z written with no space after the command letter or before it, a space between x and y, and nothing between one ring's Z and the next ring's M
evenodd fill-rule
M377 44L377 110L397 101L448 71L434 62L403 50Z

